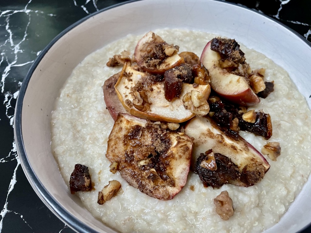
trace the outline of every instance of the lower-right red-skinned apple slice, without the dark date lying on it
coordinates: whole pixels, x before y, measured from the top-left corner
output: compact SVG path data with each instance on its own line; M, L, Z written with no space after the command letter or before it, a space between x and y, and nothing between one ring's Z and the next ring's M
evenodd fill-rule
M262 154L241 136L226 134L209 117L194 117L188 121L185 134L194 139L192 164L201 153L212 149L237 165L243 179L228 180L230 184L250 186L262 180L270 165Z

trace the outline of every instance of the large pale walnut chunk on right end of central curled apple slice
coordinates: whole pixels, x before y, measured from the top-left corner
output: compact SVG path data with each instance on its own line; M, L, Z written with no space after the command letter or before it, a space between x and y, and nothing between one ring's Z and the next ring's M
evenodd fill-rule
M205 116L210 111L210 106L207 100L204 99L204 95L195 90L192 90L191 93L187 92L183 96L183 105L187 107L190 112L201 116Z

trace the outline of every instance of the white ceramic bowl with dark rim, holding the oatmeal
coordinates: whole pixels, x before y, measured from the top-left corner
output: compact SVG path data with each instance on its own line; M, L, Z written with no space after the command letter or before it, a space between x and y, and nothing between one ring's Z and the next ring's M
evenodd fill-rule
M68 192L51 153L51 111L59 89L79 62L95 50L129 33L167 27L234 37L265 54L288 71L311 106L307 80L310 44L258 12L212 0L145 0L105 9L78 21L58 35L34 62L21 86L14 121L17 152L30 184L51 211L75 231L114 232ZM281 221L266 232L296 232L308 225L310 198L309 179Z

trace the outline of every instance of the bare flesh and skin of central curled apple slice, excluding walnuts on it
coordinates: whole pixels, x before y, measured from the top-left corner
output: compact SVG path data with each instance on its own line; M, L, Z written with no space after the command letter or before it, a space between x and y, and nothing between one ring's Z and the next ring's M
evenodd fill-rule
M127 74L130 74L130 76ZM135 102L136 98L132 93L137 83L142 80L146 81L147 79L148 75L146 73L136 71L131 66L125 64L119 80L115 85L115 90L120 102L130 114L153 121L176 123L187 121L196 114L184 107L183 96L186 93L191 93L192 90L195 90L202 93L206 100L211 92L209 84L193 87L192 84L183 83L179 98L175 98L169 102L165 99L164 82L151 83L144 91L147 96L145 100L147 100L149 104L148 109L141 111L131 104L133 101ZM146 104L145 102L143 102L142 105Z

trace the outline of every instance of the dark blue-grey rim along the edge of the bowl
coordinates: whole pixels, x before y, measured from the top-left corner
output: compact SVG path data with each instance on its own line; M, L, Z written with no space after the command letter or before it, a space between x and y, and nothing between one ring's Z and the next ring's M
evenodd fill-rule
M29 162L28 156L26 154L26 150L25 150L25 146L24 146L24 140L23 140L23 135L22 135L21 113L22 113L22 107L23 107L23 99L25 97L26 90L27 90L27 87L28 87L28 84L29 84L29 81L30 81L30 78L31 78L33 72L35 71L35 69L37 68L37 66L41 62L42 58L45 56L45 54L49 51L50 48L52 48L52 46L61 37L63 37L65 34L67 34L73 28L77 27L78 25L80 25L84 21L88 20L89 18L91 18L91 17L93 17L93 16L95 16L97 14L100 14L100 13L102 13L104 11L108 11L108 10L116 8L116 7L120 7L122 5L126 5L128 3L140 2L140 1L143 1L143 0L129 0L129 1L125 1L125 2L120 2L120 3L114 4L114 5L109 6L109 7L105 7L103 9L99 10L99 11L95 11L94 13L91 13L91 14L83 17L82 19L78 20L77 22L75 22L72 25L70 25L69 27L67 27L65 30L63 30L61 33L59 33L53 40L51 40L51 42L40 52L38 57L36 57L35 61L31 65L29 71L27 72L27 74L26 74L26 76L25 76L25 78L24 78L24 80L23 80L23 82L21 84L21 88L19 90L18 98L17 98L17 101L16 101L15 114L14 114L14 139L15 139L15 143L16 143L16 150L17 150L17 154L18 154L18 159L20 160L22 169L23 169L23 171L24 171L28 181L30 182L30 185L35 190L36 194L39 196L41 201L62 222L64 222L67 226L69 226L70 228L72 228L74 231L77 231L77 232L97 233L98 231L96 231L95 229L91 228L90 226L85 225L83 222L81 222L79 219L77 219L74 215L72 215L70 212L68 212L65 208L63 208L63 206L60 203L58 203L53 198L53 196L46 190L46 188L44 187L44 185L41 183L41 181L39 180L38 176L34 172L32 166L31 166L31 164ZM298 32L296 32L295 30L291 29L289 26L283 24L282 22L272 18L271 16L267 16L267 15L263 14L260 11L256 11L256 10L248 8L248 7L244 6L244 5L238 5L238 4L232 3L232 2L224 2L222 0L209 0L209 1L216 1L216 2L222 2L224 4L230 4L230 5L234 6L234 7L243 8L244 10L252 11L253 13L256 13L256 14L259 14L261 16L264 16L264 17L266 17L266 18L268 18L268 19L270 19L272 21L275 21L277 24L281 25L285 29L289 30L291 33L295 34L295 36L297 36L300 39L301 42L306 43L307 45L309 45L311 47L311 42L309 42L306 38L304 38ZM311 225L311 222L309 223L309 225L304 226L304 228L302 228L301 231L306 229L310 225Z

